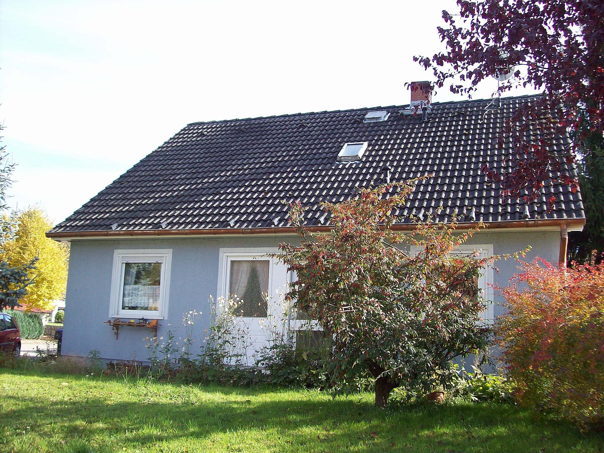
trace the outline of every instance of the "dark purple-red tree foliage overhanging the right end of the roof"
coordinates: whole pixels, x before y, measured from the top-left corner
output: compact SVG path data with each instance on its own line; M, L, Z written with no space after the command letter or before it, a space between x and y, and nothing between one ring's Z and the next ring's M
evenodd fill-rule
M458 0L457 7L443 11L447 25L438 28L447 50L414 60L434 70L437 86L449 83L470 97L482 80L509 71L513 77L500 92L519 86L545 92L513 112L498 137L499 146L512 144L512 169L483 171L514 198L526 190L527 199L536 199L546 189L551 206L554 184L573 191L578 185L573 175L551 180L550 169L559 169L561 159L572 163L577 150L591 152L593 137L601 141L604 131L604 2ZM528 133L531 123L542 132L537 141ZM568 132L572 145L559 155L552 142Z

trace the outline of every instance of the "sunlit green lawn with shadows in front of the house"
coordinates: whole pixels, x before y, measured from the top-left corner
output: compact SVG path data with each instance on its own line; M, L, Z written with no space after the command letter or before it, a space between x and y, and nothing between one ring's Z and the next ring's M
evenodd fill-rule
M0 452L601 452L511 405L377 410L370 394L136 384L0 368Z

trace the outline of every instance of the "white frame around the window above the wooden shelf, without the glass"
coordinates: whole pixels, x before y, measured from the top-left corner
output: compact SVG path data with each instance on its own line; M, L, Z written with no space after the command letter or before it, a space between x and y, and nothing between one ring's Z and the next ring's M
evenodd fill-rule
M126 263L161 263L161 274L159 277L159 310L124 310L121 308L124 294L124 268ZM172 249L114 250L109 317L147 318L150 320L163 320L167 318L171 268Z

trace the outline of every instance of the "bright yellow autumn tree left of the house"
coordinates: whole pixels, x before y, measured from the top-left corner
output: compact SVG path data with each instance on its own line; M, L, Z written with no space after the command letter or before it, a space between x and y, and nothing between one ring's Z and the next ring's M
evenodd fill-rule
M30 271L34 283L27 287L27 295L20 303L30 309L46 309L51 301L65 294L69 246L46 237L53 222L42 208L34 206L14 217L19 222L18 237L5 243L3 257L11 265L38 257L36 269Z

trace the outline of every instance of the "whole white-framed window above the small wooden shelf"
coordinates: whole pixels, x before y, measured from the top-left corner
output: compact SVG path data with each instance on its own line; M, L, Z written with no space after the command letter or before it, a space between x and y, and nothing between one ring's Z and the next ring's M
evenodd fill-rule
M172 249L115 250L109 316L167 316Z

